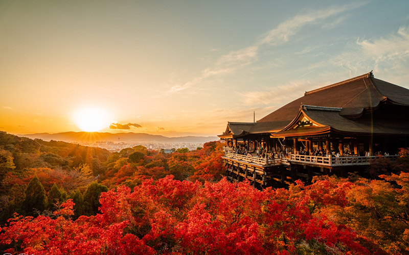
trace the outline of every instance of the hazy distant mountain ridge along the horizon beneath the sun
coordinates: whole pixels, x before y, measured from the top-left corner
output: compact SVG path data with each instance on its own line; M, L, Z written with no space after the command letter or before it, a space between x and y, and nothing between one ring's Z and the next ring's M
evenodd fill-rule
M182 137L165 137L160 135L149 135L145 133L99 133L99 132L64 132L56 134L38 133L29 135L18 135L31 139L41 139L44 141L64 141L64 142L96 142L96 141L113 141L113 142L194 142L205 143L219 140L216 136L182 136Z

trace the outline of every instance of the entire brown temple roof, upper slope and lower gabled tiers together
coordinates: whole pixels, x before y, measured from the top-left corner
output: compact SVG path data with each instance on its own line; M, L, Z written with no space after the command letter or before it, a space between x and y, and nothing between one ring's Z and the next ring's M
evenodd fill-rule
M256 123L229 122L220 138L236 138L247 134L288 134L285 128L302 112L308 118L333 131L378 134L409 134L409 114L396 121L383 123L368 119L367 112L382 105L409 107L409 90L375 79L372 71L358 77L305 92L304 96L268 114ZM301 108L300 108L301 106ZM388 113L382 113L384 117ZM320 129L324 130L323 127ZM328 129L327 129L328 130ZM302 130L299 130L300 132ZM291 133L291 132L290 132Z

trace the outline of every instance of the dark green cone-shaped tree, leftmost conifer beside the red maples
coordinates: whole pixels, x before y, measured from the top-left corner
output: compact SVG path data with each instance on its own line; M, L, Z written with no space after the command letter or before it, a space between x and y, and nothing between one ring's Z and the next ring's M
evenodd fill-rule
M34 175L25 191L26 197L22 202L22 207L27 215L35 216L35 212L42 212L46 209L46 191L42 184Z

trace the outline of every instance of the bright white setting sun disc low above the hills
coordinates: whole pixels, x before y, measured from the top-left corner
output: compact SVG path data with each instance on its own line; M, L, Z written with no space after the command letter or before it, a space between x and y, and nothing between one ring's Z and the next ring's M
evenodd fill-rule
M110 116L107 112L96 109L81 109L73 115L74 123L85 132L97 132L109 126Z

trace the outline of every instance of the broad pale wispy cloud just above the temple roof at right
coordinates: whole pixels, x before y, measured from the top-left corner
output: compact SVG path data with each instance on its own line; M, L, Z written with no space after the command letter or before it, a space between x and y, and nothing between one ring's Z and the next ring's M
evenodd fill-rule
M401 27L397 32L383 38L358 39L347 46L344 52L300 69L305 73L288 84L238 94L241 101L248 106L282 105L288 103L290 99L302 96L305 90L342 81L371 69L374 70L376 77L403 86L409 79L407 45L409 45L408 27ZM308 52L310 49L306 48L303 52ZM309 80L304 78L316 69L320 70L319 74ZM346 72L349 73L349 77L346 77Z

